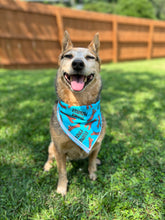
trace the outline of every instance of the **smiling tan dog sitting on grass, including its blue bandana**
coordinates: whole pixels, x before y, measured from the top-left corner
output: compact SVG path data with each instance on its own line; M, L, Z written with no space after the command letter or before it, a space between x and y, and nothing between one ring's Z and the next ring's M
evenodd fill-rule
M96 180L97 165L101 164L97 155L105 135L106 121L100 113L102 81L99 47L98 33L88 48L74 47L68 32L64 33L55 80L58 100L50 120L51 142L44 165L44 170L49 171L56 159L59 174L57 193L62 196L67 193L67 159L89 157L91 180Z

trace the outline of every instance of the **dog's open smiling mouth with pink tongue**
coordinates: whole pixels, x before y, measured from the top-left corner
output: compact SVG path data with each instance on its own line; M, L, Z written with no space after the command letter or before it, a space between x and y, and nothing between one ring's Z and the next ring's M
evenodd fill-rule
M68 73L64 73L64 78L66 82L70 85L73 91L82 91L94 78L94 74L91 73L88 76L84 75L69 75Z

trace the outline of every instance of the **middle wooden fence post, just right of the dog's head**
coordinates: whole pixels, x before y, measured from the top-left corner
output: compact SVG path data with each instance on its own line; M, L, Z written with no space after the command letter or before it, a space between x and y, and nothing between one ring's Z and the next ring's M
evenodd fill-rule
M118 22L117 22L117 18L114 17L113 19L113 38L112 38L112 45L113 45L113 62L117 63L118 61Z

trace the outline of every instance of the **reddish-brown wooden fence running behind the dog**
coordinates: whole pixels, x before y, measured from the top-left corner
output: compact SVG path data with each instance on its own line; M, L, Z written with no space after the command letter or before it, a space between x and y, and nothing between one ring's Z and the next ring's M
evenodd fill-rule
M75 46L100 33L102 62L165 57L165 22L0 0L0 67L57 67L64 30Z

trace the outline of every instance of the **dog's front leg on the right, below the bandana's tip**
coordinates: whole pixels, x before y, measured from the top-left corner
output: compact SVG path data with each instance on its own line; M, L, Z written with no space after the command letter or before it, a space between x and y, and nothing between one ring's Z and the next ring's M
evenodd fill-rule
M100 160L97 159L97 155L100 150L100 145L101 144L97 144L96 148L89 155L88 171L89 171L89 178L91 180L96 180L97 175L95 174L95 172L97 171L97 164L101 164Z

